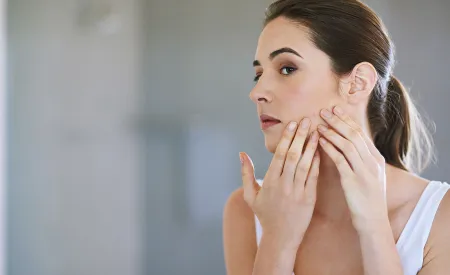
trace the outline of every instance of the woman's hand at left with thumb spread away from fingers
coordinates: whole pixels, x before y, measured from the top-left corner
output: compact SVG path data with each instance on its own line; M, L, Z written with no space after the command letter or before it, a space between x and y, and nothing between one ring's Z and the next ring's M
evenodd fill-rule
M306 149L310 120L303 119L285 130L260 188L247 154L241 153L244 199L258 217L263 236L278 245L297 249L311 221L316 202L319 135L311 135Z

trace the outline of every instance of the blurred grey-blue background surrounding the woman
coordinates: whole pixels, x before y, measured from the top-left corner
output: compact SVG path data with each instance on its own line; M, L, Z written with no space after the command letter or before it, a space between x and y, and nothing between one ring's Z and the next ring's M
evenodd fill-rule
M225 274L238 152L271 160L248 99L270 2L0 1L2 274ZM437 125L423 176L447 181L450 1L366 3Z

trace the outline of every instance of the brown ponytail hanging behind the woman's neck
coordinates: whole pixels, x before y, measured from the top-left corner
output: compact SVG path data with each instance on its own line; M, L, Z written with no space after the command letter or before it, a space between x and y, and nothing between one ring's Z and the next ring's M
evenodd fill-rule
M384 127L374 143L386 162L400 169L420 173L434 160L431 135L408 91L394 76L387 85Z

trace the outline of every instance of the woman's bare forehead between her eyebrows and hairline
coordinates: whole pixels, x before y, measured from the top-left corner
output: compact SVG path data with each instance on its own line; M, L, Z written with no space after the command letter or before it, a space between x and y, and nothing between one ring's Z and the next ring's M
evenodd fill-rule
M284 17L274 19L264 27L259 36L255 58L266 59L271 52L284 47L290 47L301 53L314 48L308 28Z

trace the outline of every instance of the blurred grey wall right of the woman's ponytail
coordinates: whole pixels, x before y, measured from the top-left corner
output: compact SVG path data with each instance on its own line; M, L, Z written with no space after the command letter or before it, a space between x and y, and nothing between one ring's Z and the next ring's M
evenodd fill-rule
M397 47L394 74L437 126L434 141L439 162L424 176L450 181L450 1L391 0L388 9L386 23Z

